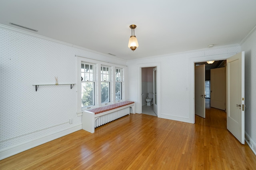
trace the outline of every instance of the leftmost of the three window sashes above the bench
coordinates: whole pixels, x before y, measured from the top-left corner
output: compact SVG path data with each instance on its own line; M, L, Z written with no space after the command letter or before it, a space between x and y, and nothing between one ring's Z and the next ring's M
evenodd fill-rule
M82 107L95 105L95 69L90 63L81 63Z

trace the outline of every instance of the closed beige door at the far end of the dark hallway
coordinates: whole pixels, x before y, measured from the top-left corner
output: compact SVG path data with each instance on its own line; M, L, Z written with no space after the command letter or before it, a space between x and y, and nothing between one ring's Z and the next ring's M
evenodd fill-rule
M226 110L226 67L211 69L211 107Z

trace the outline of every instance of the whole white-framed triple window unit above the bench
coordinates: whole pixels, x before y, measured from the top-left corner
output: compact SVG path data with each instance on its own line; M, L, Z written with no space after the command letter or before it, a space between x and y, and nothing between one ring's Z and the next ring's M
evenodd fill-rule
M78 115L126 99L126 66L81 56L76 61Z

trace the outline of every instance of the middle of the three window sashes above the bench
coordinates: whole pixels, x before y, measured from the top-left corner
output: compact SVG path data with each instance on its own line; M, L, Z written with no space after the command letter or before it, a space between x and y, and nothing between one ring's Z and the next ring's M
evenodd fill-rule
M102 66L100 70L101 77L101 103L110 102L110 83L111 69L110 67Z

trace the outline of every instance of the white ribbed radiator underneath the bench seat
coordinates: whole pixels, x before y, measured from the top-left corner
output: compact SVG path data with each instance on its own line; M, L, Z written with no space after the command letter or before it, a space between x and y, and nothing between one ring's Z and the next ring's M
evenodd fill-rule
M111 121L114 121L120 117L123 117L125 115L129 115L130 114L130 107L126 107L122 110L119 111L115 111L112 113L108 113L106 115L102 115L100 116L98 119L95 120L95 124L94 127L99 127L101 125L104 125L106 123L109 123Z

